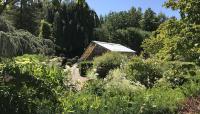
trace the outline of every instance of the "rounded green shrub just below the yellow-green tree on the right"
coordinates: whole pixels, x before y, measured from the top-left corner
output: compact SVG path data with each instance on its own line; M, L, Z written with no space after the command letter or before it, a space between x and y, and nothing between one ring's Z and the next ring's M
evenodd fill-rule
M154 61L148 62L136 57L125 66L125 73L128 79L139 81L147 88L153 87L162 77L162 71L154 64Z

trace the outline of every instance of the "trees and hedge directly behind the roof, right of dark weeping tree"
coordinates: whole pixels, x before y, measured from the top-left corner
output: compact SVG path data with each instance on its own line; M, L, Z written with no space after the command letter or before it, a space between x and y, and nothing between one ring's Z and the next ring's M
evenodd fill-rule
M144 13L141 8L134 7L129 11L111 12L102 19L100 27L95 29L94 37L123 44L140 54L143 40L149 38L151 32L167 19L164 14L156 14L150 8Z

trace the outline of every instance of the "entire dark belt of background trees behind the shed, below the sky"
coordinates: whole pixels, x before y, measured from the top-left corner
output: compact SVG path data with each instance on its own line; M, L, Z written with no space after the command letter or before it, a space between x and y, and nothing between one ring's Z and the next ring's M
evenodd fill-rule
M140 54L142 41L168 19L150 8L143 13L134 7L99 18L85 0L6 0L5 5L0 13L5 20L16 29L51 39L55 54L68 57L81 55L92 40L122 43Z

